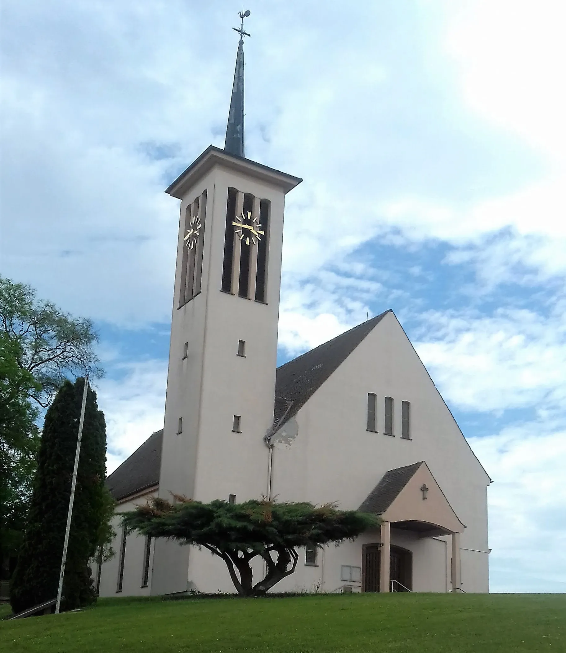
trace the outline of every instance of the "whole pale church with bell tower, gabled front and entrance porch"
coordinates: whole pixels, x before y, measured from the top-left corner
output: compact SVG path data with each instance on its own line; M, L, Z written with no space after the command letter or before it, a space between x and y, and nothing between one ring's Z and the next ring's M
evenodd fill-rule
M301 550L274 592L488 592L491 479L393 311L276 368L285 196L301 179L244 157L245 15L224 150L166 191L180 221L165 421L107 479L116 555L93 565L99 595L235 592L207 550L120 528L172 492L382 518Z

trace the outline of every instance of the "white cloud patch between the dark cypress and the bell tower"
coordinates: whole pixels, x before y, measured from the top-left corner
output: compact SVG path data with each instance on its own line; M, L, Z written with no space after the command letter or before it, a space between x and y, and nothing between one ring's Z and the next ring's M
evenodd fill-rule
M167 362L114 364L114 371L121 377L102 379L96 387L98 406L106 416L108 474L163 428Z

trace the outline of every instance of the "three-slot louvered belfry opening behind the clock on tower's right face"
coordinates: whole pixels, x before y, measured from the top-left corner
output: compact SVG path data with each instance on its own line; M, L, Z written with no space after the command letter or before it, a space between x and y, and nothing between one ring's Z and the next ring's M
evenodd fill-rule
M235 188L228 189L221 287L225 293L265 302L270 206L269 200ZM239 234L235 223L241 223L239 217L242 215L247 226ZM252 221L257 218L256 222L251 223L248 215ZM252 238L250 225L263 232L259 240L257 236Z

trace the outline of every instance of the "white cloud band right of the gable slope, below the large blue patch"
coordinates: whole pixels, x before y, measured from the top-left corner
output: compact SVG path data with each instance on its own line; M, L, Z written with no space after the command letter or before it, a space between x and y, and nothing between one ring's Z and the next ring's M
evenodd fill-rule
M566 313L424 315L414 346L442 396L461 409L566 411ZM425 334L425 335L424 335Z

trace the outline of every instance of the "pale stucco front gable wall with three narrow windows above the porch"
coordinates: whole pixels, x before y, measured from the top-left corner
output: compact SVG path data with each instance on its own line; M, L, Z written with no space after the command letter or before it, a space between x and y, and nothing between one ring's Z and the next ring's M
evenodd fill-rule
M378 397L378 433L366 430L368 392ZM383 434L386 396L395 400L395 437ZM400 437L403 400L411 403L410 441ZM489 478L393 313L376 325L274 441L273 496L336 501L344 509L356 509L386 471L425 460L467 527L461 535L461 588L488 592ZM401 535L392 532L393 544L395 537ZM446 591L443 570L448 569L450 583L450 545L448 560L439 541L421 539L403 546L414 552L415 590ZM345 555L348 547L342 545L337 552ZM361 564L361 547L356 550ZM299 584L301 573L295 579ZM308 572L304 575L307 579Z

